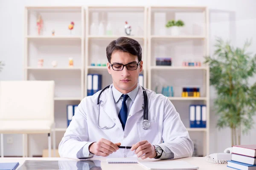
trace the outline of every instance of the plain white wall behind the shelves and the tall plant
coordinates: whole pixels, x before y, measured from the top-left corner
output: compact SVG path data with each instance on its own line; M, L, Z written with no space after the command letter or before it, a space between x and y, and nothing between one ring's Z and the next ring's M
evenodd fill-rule
M24 6L80 6L80 5L108 5L108 6L208 6L210 16L210 54L213 52L215 37L222 37L232 41L233 45L242 46L247 38L253 38L250 52L256 53L256 1L255 0L0 0L0 60L6 64L0 73L0 80L23 80L24 54ZM256 78L251 80L256 81ZM217 118L214 114L213 99L215 91L211 88L211 116L210 116L210 153L223 152L230 147L230 130L218 131ZM256 116L254 117L256 121ZM248 136L242 137L242 144L255 144L255 128ZM61 139L63 133L57 133ZM6 137L13 136L14 144L6 144ZM36 144L40 138L43 147ZM35 140L37 139L37 140ZM22 155L22 136L5 135L4 155ZM47 148L47 136L33 135L30 139L30 155L41 155L42 149ZM57 141L59 142L59 141Z

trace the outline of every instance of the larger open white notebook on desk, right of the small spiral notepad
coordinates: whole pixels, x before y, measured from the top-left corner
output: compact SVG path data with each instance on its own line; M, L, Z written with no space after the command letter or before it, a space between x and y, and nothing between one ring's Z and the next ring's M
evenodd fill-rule
M139 164L148 170L197 170L199 168L186 161L153 161L139 162Z

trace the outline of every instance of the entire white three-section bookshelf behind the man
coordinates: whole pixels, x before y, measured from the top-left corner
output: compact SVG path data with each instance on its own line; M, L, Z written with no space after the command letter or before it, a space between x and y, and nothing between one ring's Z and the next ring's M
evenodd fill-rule
M36 27L39 14L44 20L40 35L37 34ZM188 14L194 20L187 20ZM186 26L183 34L172 35L164 26L167 20L178 17L185 21ZM77 105L87 96L87 74L102 74L102 88L112 83L111 75L106 71L107 67L97 66L97 63L107 64L106 46L112 40L118 37L130 37L142 46L144 87L154 91L156 82L163 81L166 75L169 77L167 80L169 85L172 85L172 79L177 80L173 85L175 96L169 99L180 113L190 137L194 134L203 136L201 143L203 155L208 155L209 67L207 65L201 67L181 65L183 59L201 60L202 56L209 54L208 18L206 7L26 6L24 79L55 81L55 130L53 135L58 132L57 137L60 140L67 129L67 105ZM125 20L132 27L131 36L125 34ZM70 33L67 27L71 21L75 25ZM98 34L100 23L103 24L104 31ZM109 23L111 34L107 34L106 29ZM97 28L96 31L92 29L93 24ZM55 30L54 36L52 36L52 29ZM177 50L175 51L173 47ZM172 66L156 65L155 54L159 54L160 57L171 54L173 56ZM72 68L68 67L70 57L74 60ZM38 67L38 59L44 59L43 67ZM52 67L53 60L57 61L57 67ZM92 63L96 66L92 66ZM162 77L163 75L165 77ZM155 81L156 79L158 81ZM183 85L200 86L201 97L181 97L179 87ZM189 127L188 107L190 104L208 106L206 128ZM180 109L182 107L187 110ZM59 142L55 141L54 136L53 138L55 148ZM37 149L45 148L40 146ZM38 155L38 153L35 154ZM33 155L32 149L30 155Z

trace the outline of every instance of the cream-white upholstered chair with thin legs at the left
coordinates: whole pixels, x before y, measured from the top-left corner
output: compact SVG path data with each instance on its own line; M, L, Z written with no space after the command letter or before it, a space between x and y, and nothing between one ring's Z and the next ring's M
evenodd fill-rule
M0 81L1 157L4 133L23 134L23 157L28 156L28 134L48 133L51 157L54 86L54 81Z

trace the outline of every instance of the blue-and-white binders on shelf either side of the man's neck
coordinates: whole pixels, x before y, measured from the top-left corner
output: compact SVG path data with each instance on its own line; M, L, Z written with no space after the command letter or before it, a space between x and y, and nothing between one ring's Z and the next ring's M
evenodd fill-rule
M139 75L138 83L144 86L143 74ZM92 96L102 89L102 75L88 74L87 75L87 96Z

